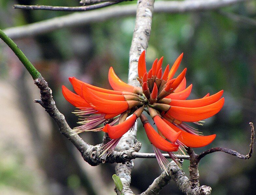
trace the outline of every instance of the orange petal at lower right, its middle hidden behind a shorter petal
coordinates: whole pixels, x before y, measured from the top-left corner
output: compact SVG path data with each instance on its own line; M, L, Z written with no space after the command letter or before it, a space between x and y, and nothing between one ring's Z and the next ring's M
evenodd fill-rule
M168 120L163 119L174 131L179 132L181 131L180 128L175 126L174 124L170 123ZM208 144L212 143L215 139L216 134L213 135L194 135L185 131L181 131L181 134L178 138L180 142L182 142L187 147L203 147L207 146Z

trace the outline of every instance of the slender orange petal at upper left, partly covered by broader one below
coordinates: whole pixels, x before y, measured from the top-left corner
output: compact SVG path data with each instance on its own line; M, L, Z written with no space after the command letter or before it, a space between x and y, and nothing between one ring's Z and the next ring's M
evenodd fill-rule
M85 83L83 81L80 81L78 80L77 78L75 77L69 77L69 80L74 88L74 90L76 91L75 88L77 88L77 91L80 91L79 93L81 93L81 89L82 89L82 84L85 84L88 88L90 89L93 89L95 91L100 91L100 92L104 92L104 93L110 93L110 94L119 94L119 95L122 95L122 92L120 91L114 91L114 90L107 90L107 89L104 89L104 88L100 88L100 87L96 87L96 86L93 86L93 85L90 85L88 83ZM75 82L76 81L76 82ZM78 93L77 93L78 94ZM79 94L78 94L79 95Z

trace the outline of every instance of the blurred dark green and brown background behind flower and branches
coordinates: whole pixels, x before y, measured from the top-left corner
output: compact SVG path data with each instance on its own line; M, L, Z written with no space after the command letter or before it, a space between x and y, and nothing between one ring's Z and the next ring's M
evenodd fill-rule
M0 0L1 29L69 14L18 10L12 8L14 4L79 6L79 1ZM221 11L153 16L146 56L148 70L155 58L164 56L165 67L184 52L178 73L187 67L187 86L193 83L190 99L224 90L223 109L199 127L204 135L216 133L216 139L208 146L196 148L196 153L217 146L248 153L249 122L256 124L256 25L248 21L255 17L256 1L221 8ZM77 117L71 113L75 108L63 98L61 86L72 90L68 77L75 76L110 89L107 81L110 66L127 81L134 24L135 16L119 17L15 39L48 82L56 105L71 128L77 126ZM84 162L76 148L59 133L52 118L33 102L38 98L40 93L31 76L1 42L0 194L115 194L112 180L115 164L91 167ZM92 145L101 143L103 136L101 132L80 135ZM143 143L140 152L153 152L141 123L137 138ZM155 159L134 161L131 188L138 194L162 171ZM188 165L184 160L187 176ZM212 187L214 195L254 194L255 170L255 155L241 160L216 152L200 162L200 185ZM182 193L170 181L160 194Z

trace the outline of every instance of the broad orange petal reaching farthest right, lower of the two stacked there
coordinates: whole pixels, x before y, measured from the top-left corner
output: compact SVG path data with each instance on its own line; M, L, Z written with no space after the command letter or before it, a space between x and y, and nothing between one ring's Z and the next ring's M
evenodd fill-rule
M224 98L217 102L196 108L187 108L179 106L171 106L167 113L173 118L186 122L195 122L205 118L212 117L220 111L224 104Z

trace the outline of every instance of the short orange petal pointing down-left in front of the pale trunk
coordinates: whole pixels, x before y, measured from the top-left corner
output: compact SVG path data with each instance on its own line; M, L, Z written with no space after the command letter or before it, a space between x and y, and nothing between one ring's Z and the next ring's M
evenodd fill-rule
M111 139L120 138L124 133L128 132L128 130L131 129L136 119L136 115L133 114L133 116L131 116L130 118L126 119L124 122L118 125L110 126L106 124L109 137Z

